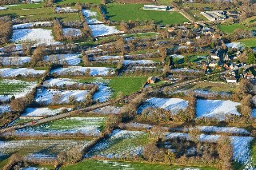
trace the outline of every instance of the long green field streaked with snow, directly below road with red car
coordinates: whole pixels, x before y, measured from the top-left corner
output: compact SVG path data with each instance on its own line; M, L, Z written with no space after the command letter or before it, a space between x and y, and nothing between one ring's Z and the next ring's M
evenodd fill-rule
M105 117L70 117L49 124L37 125L16 130L18 136L62 136L82 133L86 136L98 136Z

